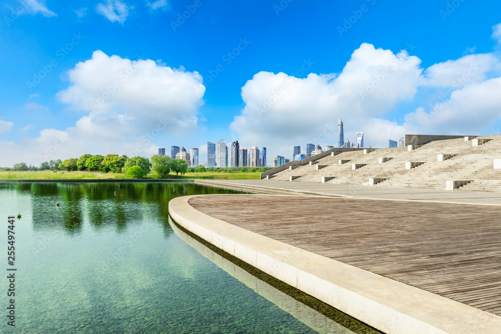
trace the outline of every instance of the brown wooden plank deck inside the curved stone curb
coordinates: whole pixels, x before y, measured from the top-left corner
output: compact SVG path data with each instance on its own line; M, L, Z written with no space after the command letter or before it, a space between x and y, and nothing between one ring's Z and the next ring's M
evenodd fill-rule
M303 196L208 195L214 218L501 315L501 209Z

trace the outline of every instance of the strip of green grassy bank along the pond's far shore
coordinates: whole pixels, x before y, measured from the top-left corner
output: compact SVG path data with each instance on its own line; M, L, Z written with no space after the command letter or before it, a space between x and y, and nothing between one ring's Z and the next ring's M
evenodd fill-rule
M162 179L214 179L214 180L259 180L261 173L245 173L245 172L202 172L202 173L186 173L184 175L176 175L170 173L162 177ZM159 178L158 175L150 173L148 178ZM125 175L121 173L95 173L95 172L66 172L66 171L0 171L1 179L34 179L34 180L78 180L78 179L125 179Z

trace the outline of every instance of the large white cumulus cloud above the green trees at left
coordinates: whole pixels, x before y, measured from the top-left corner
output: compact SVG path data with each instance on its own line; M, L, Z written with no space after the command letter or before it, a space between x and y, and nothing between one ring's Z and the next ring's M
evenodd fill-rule
M150 157L166 138L185 136L198 128L197 110L203 104L205 87L196 72L96 51L91 59L76 64L68 78L69 87L57 97L86 115L66 129L43 129L35 138L0 143L11 153L17 152L12 154L16 159L12 163L39 165L85 153Z

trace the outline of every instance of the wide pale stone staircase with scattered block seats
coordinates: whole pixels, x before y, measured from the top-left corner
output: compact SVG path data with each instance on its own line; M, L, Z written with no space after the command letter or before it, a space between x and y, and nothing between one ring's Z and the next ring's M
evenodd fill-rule
M493 160L501 159L501 135L472 139L432 141L411 151L407 147L384 148L338 153L315 160L308 165L273 174L273 180L369 184L445 189L447 181L462 181L454 190L501 192L501 169L493 168ZM485 140L485 142L484 142ZM438 155L443 154L443 161ZM341 163L340 163L341 162ZM467 182L465 182L467 181Z

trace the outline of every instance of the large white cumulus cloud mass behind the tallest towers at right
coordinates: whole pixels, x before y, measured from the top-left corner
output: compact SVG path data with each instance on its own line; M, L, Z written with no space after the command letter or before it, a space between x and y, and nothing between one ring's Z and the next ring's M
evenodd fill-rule
M363 131L372 147L412 133L478 134L501 117L500 64L493 54L474 54L422 69L405 51L362 44L340 73L256 74L242 87L245 107L230 129L242 147L268 146L271 157L292 155L293 145L337 146L338 119L345 140ZM421 88L428 97L417 96ZM387 119L396 106L429 103L444 89L449 92L434 108L414 107L399 122Z

